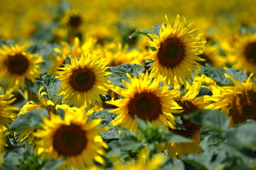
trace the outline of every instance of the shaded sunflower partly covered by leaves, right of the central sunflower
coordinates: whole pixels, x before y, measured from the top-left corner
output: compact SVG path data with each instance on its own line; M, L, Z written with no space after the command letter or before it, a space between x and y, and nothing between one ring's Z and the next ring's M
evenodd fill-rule
M176 96L174 100L182 106L184 111L181 113L182 115L187 115L189 113L194 112L195 110L207 109L210 107L210 96L200 96L196 98L200 85L202 83L202 79L194 83L187 93L182 96L180 99L180 95ZM191 143L174 143L167 142L165 144L164 149L168 149L168 156L171 157L182 157L184 155L188 155L191 153L200 153L202 149L200 147L200 133L201 127L191 123L190 120L183 119L181 117L182 124L185 129L171 129L169 131L174 132L175 134L184 136L186 138L192 139Z

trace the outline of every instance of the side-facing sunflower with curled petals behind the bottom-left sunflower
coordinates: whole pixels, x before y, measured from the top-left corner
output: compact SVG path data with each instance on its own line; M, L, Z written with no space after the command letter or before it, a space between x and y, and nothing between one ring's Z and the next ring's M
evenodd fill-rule
M35 110L35 109L46 109L48 111L48 119L51 119L50 115L51 114L55 114L56 115L56 111L58 110L58 108L61 108L61 109L67 109L69 107L66 107L65 104L57 104L55 105L51 100L46 100L43 95L47 95L46 92L42 92L41 93L41 90L43 89L44 87L41 87L38 91L38 98L39 98L39 101L41 102L41 104L34 104L33 101L29 101L27 102L20 110L20 113L18 113L18 116L20 115L23 115L23 114L26 114L28 113L30 110ZM72 108L69 108L69 112L70 113L74 113L74 111L77 110L76 107L72 107ZM36 141L38 139L35 138L35 136L33 135L30 135L32 134L34 131L36 130L36 128L32 127L32 128L28 128L26 130L24 130L19 138L18 138L18 141L19 142L22 142L24 139L26 139L28 141L28 143L31 143L32 146L35 145Z

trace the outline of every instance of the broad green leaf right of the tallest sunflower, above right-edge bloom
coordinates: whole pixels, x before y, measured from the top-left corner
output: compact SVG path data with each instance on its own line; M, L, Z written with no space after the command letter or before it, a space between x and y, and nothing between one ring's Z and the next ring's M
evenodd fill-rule
M224 75L224 73L229 74L235 80L237 81L240 80L241 82L244 82L248 77L246 73L240 70L236 70L234 68L224 70L222 68L214 68L214 67L207 66L202 70L199 70L198 72L200 74L205 74L207 77L210 77L219 85L234 85L232 81Z

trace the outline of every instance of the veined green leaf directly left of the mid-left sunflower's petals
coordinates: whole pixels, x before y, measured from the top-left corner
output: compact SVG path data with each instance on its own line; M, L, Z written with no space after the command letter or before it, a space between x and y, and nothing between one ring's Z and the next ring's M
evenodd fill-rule
M45 87L41 90L41 92L46 92L48 94L44 95L44 97L47 100L52 100L54 97L56 97L56 94L61 87L61 81L56 79L54 76L44 74L42 75L42 80L37 80L35 83L37 91L43 86Z

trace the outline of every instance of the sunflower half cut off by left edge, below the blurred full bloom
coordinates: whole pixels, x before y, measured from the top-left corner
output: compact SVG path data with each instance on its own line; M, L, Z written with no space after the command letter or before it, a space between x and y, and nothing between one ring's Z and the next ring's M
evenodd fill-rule
M13 96L12 94L0 95L0 131L6 130L5 125L10 125L17 116L15 111L20 110L10 105L16 100Z

